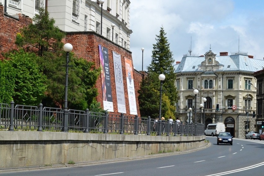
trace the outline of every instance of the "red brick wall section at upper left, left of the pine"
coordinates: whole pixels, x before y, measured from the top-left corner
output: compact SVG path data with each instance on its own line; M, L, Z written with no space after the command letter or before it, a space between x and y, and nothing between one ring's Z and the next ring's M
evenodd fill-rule
M20 29L32 23L32 19L22 14L17 14L18 19L4 14L4 6L0 5L0 53L17 49L15 37ZM0 54L0 59L3 55Z

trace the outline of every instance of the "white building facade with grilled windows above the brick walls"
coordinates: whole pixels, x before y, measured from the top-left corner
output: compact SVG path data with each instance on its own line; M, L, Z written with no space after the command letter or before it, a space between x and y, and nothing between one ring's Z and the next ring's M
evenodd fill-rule
M102 25L103 37L130 50L129 0L0 0L0 4L6 5L9 15L21 13L30 18L47 5L50 18L62 31L95 31L100 34Z

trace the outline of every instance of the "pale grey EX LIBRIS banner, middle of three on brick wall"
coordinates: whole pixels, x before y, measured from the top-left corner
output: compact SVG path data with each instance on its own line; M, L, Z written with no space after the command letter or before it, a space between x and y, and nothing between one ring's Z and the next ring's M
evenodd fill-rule
M118 112L126 114L121 55L117 54L114 51L113 51L113 61L114 61L116 93L117 93L117 109Z

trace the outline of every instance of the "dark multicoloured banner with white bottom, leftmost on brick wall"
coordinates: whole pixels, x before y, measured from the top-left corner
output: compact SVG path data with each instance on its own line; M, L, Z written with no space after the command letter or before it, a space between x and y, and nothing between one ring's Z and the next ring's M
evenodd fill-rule
M101 82L103 95L103 109L109 112L114 112L112 87L109 70L108 49L99 45L99 58L101 67Z

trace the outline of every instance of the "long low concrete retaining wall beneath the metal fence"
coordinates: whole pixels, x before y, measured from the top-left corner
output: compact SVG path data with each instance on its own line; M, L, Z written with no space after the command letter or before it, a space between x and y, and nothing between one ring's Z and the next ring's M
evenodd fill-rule
M204 144L205 136L0 131L0 168L144 156Z

